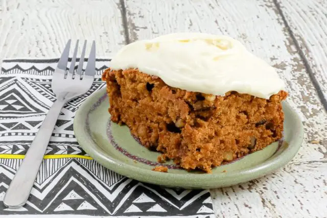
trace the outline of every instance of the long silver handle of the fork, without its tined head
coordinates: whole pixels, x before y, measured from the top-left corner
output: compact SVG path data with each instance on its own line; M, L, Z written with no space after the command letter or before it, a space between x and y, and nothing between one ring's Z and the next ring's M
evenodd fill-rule
M48 147L50 137L64 104L65 101L63 99L57 99L51 106L24 160L22 160L9 185L4 198L5 206L9 208L19 208L27 202L37 172L42 163L46 147Z

